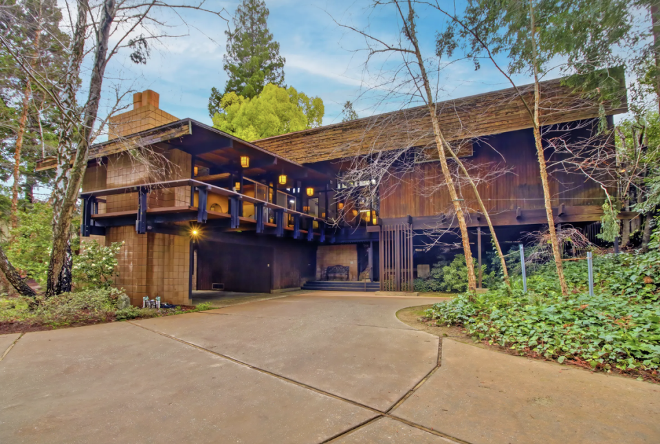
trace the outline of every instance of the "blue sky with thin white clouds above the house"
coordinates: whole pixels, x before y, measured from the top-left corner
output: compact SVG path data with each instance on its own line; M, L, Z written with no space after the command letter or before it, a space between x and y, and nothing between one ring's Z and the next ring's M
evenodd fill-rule
M231 14L238 1L209 0L213 8L224 7ZM281 45L285 56L285 82L308 96L319 96L325 103L324 124L340 121L342 105L355 101L360 117L410 106L407 98L388 98L383 89L370 89L369 85L382 65L373 64L366 70L364 38L338 26L340 23L364 29L386 41L398 38L395 16L390 12L373 12L370 1L350 0L267 0L270 9L268 25L274 38ZM423 51L432 56L434 36L441 27L437 12L418 11L419 40ZM223 89L226 81L222 69L225 53L227 24L208 14L190 12L184 16L189 26L179 26L174 32L188 34L164 41L154 49L146 65L126 63L120 56L109 67L112 77L109 83L121 82L122 88L137 91L153 89L160 94L161 108L178 118L194 118L210 124L207 104L211 87ZM171 23L176 23L173 19ZM397 59L398 60L398 59ZM382 62L382 60L379 60ZM439 100L470 96L475 93L509 87L505 79L487 62L479 71L472 62L461 61L445 67L437 77ZM391 67L392 63L385 63ZM518 76L521 83L529 82L527 76ZM107 85L109 86L109 84ZM110 100L113 93L106 95ZM126 104L130 102L127 99Z

